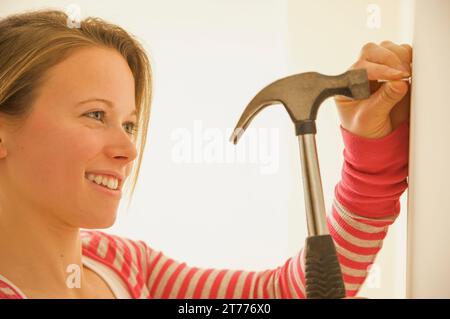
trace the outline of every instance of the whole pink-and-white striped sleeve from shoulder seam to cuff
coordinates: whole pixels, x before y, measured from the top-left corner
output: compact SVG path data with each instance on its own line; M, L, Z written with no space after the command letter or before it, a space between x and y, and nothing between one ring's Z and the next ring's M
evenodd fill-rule
M407 188L409 122L379 138L340 127L342 178L335 186L327 225L347 296L357 294L400 211ZM305 298L303 249L282 266L264 271L197 268L145 246L145 284L152 298Z

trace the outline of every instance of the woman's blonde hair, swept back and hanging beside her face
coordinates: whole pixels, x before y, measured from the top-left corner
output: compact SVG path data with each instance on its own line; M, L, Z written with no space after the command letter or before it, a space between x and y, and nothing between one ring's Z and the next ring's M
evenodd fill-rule
M57 10L15 14L0 20L0 115L20 122L31 112L44 73L73 50L101 46L117 50L127 61L135 81L138 148L131 175L131 197L145 147L150 118L152 74L141 44L121 27L88 17L76 28ZM129 202L129 203L130 203Z

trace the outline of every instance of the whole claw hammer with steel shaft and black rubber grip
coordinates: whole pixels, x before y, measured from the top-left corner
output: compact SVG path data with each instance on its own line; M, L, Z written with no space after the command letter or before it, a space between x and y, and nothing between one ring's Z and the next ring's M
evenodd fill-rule
M272 104L283 104L294 122L300 147L308 225L304 258L305 291L310 299L345 297L341 267L327 228L315 139L319 106L334 95L367 99L370 96L367 71L355 69L335 76L306 72L275 81L250 101L230 139L236 144L253 117Z

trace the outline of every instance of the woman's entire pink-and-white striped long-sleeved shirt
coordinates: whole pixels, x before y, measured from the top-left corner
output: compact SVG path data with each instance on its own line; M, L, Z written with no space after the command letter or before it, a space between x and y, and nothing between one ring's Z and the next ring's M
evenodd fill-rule
M334 189L327 225L347 296L355 296L400 212L406 190L409 122L379 139L340 127L342 177ZM102 231L81 231L83 263L110 285L117 298L305 298L303 250L276 269L246 271L191 267L144 241ZM0 276L0 298L26 298Z

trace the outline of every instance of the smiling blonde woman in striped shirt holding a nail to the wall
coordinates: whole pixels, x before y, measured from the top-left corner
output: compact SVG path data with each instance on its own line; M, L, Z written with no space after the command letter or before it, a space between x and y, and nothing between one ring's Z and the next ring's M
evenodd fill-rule
M302 253L261 272L198 269L113 225L150 115L145 51L118 26L59 11L0 21L0 298L304 298ZM369 43L351 68L373 87L336 97L342 180L328 227L354 296L407 188L411 47ZM139 146L139 152L138 152ZM137 164L135 160L137 159ZM135 165L136 166L133 166Z

